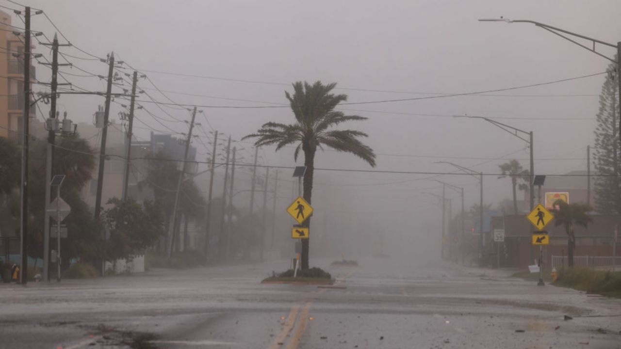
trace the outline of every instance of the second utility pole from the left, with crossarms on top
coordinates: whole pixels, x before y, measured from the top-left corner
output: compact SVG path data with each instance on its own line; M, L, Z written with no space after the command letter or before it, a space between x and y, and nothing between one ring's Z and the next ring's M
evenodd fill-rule
M52 46L52 82L50 83L50 119L47 121L47 146L45 149L45 219L43 219L43 281L49 281L49 268L50 268L50 220L47 216L47 209L49 208L50 201L52 201L52 188L50 188L50 181L52 181L52 168L54 160L54 144L56 142L56 131L58 130L58 120L56 111L56 99L58 97L58 66L70 65L68 63L58 64L58 47L70 46L70 44L58 44L58 35L54 34L52 43L41 43L42 45ZM50 65L50 63L40 63L43 65Z

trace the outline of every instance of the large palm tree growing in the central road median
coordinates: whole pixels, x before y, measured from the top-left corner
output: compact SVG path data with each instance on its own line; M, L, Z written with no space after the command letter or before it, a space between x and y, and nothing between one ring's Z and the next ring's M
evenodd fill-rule
M337 84L322 84L317 81L314 84L297 81L293 84L293 94L285 92L293 111L295 122L281 124L268 122L261 126L255 134L245 138L256 138L255 146L276 145L280 150L286 145L297 143L293 153L294 160L300 150L304 152L304 199L311 203L312 181L314 173L315 152L317 148L323 150L322 145L333 148L338 152L347 152L365 160L369 165L375 166L375 153L364 143L361 137L368 137L364 132L356 130L335 130L336 125L353 120L366 120L366 117L345 115L335 111L340 102L347 101L346 94L333 94L332 89ZM304 221L304 225L310 225L310 218ZM302 240L302 269L309 268L309 240Z

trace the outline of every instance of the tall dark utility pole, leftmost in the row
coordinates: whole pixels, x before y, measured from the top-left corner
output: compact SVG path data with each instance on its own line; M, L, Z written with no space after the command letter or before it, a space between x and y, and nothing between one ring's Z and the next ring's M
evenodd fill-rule
M21 229L21 254L22 262L19 268L19 282L28 282L28 142L29 142L29 119L30 119L30 7L25 9L24 29L24 138L22 139L22 229ZM47 185L47 183L46 183ZM46 212L47 214L47 212Z

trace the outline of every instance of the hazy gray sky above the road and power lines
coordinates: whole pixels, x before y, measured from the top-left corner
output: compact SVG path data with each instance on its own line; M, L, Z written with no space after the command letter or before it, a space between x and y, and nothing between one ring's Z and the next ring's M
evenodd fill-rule
M204 95L168 93L176 102L209 106L284 103L284 90L290 90L289 84L297 80L337 82L338 87L343 88L339 93L347 93L350 102L361 102L542 83L598 73L609 63L534 25L482 23L478 22L479 18L505 16L538 20L607 42L621 39L621 22L617 19L621 13L619 1L33 0L29 4L43 9L63 34L83 50L100 57L114 50L120 59L144 71L159 88ZM14 22L19 23L19 19ZM42 30L50 38L54 33L43 16L33 17L32 28ZM601 50L614 55L613 50L604 47ZM47 48L38 47L37 51L49 53ZM63 51L86 57L73 48ZM101 62L74 58L71 61L93 73L105 75L107 72L106 65ZM149 70L212 78L163 75ZM39 79L46 81L48 71L38 68ZM83 74L76 68L63 68L63 71ZM132 70L127 71L131 73ZM101 91L105 88L104 82L97 78L67 78L83 88ZM447 165L433 164L446 160L472 166L476 171L496 173L497 165L504 160L493 158L517 158L528 166L525 143L483 120L451 116L506 118L503 122L507 124L534 131L536 173L584 170L586 145L593 142L597 95L603 79L604 76L596 76L497 93L502 96L347 106L343 107L347 112L367 116L369 120L343 127L368 132L366 142L379 154L378 170L453 170ZM148 81L140 81L140 86L153 88ZM151 89L147 92L155 99L166 101ZM586 96L558 96L566 94ZM83 122L91 120L97 104L102 103L100 97L63 96L60 99L61 111L66 109L70 117ZM158 116L170 119L156 106L144 104ZM189 119L186 111L164 109L179 119ZM202 110L213 129L237 139L268 120L292 120L286 108L203 107ZM119 111L120 106L113 104L111 115L116 116ZM150 127L164 129L145 112L137 112L137 117ZM199 121L206 130L211 130L204 117ZM139 122L136 125L145 127ZM187 130L186 124L180 122L166 122L166 125L177 132ZM137 129L137 134L148 137L147 130ZM199 153L206 151L200 143L194 145ZM246 148L242 153L250 161L251 145L240 143L240 146ZM265 163L270 165L293 165L291 150L274 154L273 149L265 148L261 153ZM544 160L550 158L571 160ZM316 166L367 168L356 158L334 152L319 153ZM289 179L290 174L282 176ZM429 206L425 201L431 199L421 197L421 188L439 191L438 184L420 180L423 177L319 172L317 187L325 187L325 196L317 194L317 200L324 197L327 201L333 196L330 206L349 212L425 207ZM240 176L240 181L247 179L248 176ZM473 178L442 176L439 179L464 186L466 204L478 201L478 187ZM498 180L491 176L486 182L487 202L510 196L509 179ZM320 206L320 202L314 203ZM457 204L455 201L453 212ZM435 217L434 210L431 207L415 211L420 212L420 216L409 214L410 220L407 223L401 220L399 226L409 227L409 224L430 219L424 217ZM384 222L399 221L396 215L378 213L374 216L383 217ZM369 215L366 217L373 219Z

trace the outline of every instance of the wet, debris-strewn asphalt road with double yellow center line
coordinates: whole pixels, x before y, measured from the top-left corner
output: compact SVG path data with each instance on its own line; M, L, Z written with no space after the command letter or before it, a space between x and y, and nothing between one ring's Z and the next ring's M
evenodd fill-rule
M448 263L330 261L312 264L333 288L260 284L288 261L0 285L0 348L621 348L620 299Z

